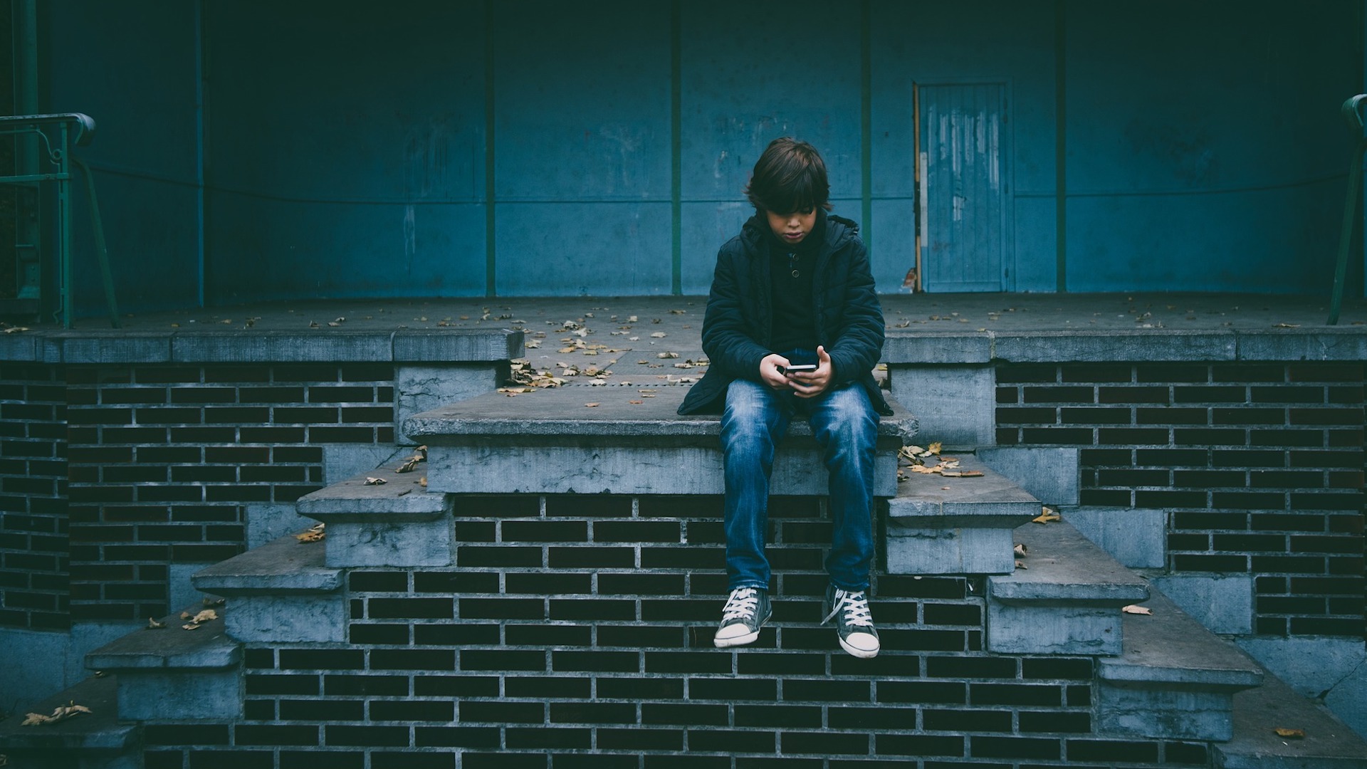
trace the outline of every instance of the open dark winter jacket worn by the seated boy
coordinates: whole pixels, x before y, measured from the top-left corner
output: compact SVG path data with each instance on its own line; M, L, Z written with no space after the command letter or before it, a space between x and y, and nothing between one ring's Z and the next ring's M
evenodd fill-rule
M770 349L774 337L770 239L768 222L755 215L741 227L741 234L718 252L703 319L703 352L709 365L684 398L678 413L720 410L727 384L734 379L759 382L760 360L779 352ZM831 387L858 382L874 409L891 415L872 374L883 352L883 311L854 222L826 218L826 241L816 257L812 298L816 343L826 348L834 368Z

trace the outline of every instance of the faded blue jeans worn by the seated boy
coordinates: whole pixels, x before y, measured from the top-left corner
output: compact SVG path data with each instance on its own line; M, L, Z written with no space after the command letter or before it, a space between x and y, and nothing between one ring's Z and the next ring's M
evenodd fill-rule
M826 571L835 587L867 590L874 561L874 442L878 436L878 413L868 394L856 382L815 398L798 398L791 391L776 393L748 379L731 382L722 415L730 587L768 588L764 540L770 472L774 445L794 415L811 421L830 471L834 531Z

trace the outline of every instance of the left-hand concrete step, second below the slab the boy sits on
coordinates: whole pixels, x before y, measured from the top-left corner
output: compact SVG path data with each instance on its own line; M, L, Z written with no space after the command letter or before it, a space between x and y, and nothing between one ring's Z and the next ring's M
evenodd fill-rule
M241 642L346 640L342 569L323 564L321 542L282 536L190 577L202 592L226 597L228 635Z

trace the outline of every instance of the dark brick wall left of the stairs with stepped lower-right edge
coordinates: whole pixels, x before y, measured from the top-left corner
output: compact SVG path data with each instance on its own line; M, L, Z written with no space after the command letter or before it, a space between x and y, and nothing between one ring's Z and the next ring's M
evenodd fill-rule
M249 504L323 486L323 445L392 443L391 364L68 367L71 614L168 612L168 566L242 551Z

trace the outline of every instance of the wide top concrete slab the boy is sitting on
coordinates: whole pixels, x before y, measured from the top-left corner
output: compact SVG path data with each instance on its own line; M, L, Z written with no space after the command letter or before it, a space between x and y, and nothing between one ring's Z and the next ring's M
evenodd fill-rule
M722 494L720 417L679 416L685 394L637 386L488 393L413 416L403 431L429 446L433 491ZM879 421L875 497L897 493L897 452L916 432L916 419L893 408ZM822 467L811 427L794 420L774 458L772 494L826 494Z

